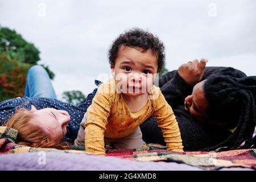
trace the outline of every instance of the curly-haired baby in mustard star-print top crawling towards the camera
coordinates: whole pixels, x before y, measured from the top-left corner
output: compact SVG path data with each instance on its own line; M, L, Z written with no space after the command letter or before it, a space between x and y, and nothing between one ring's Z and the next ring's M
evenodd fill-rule
M75 144L85 144L86 152L96 155L105 155L106 144L142 147L139 125L154 116L167 150L183 151L174 112L153 85L156 73L164 67L163 43L150 32L134 28L115 39L109 62L113 78L99 86Z

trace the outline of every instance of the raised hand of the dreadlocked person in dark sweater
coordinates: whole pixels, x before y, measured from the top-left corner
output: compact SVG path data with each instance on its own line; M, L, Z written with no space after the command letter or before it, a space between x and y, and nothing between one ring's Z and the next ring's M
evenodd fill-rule
M188 61L179 67L178 73L189 85L195 85L201 81L207 62L207 59L201 59L200 63L198 60Z

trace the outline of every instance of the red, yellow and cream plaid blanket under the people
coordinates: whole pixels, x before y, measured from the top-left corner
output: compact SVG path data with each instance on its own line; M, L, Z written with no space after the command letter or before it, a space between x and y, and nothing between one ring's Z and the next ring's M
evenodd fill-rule
M88 155L82 146L72 146L72 150L57 150L55 148L32 148L15 144L16 130L0 127L0 154L22 152L65 152ZM134 150L106 149L107 156L140 162L176 162L202 169L217 170L224 167L245 167L256 169L256 149L232 150L225 152L172 152L159 144L145 144Z

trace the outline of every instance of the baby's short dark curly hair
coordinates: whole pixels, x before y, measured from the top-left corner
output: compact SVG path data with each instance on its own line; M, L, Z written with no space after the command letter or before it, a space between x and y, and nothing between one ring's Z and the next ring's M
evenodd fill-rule
M144 31L141 28L132 28L124 34L119 35L109 49L109 63L111 65L114 65L115 59L118 56L118 50L122 45L141 48L142 52L151 49L151 51L158 57L158 73L162 71L165 60L164 44L157 36Z

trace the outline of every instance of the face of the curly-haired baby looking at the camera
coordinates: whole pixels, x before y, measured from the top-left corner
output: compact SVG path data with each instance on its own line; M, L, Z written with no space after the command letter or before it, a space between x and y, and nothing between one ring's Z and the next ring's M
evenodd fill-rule
M158 59L150 49L142 52L139 48L121 46L111 68L118 89L123 94L139 96L154 84Z

